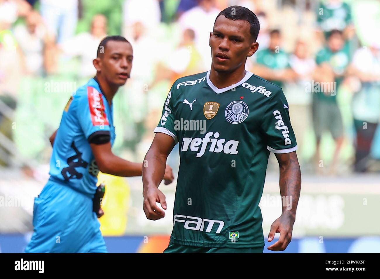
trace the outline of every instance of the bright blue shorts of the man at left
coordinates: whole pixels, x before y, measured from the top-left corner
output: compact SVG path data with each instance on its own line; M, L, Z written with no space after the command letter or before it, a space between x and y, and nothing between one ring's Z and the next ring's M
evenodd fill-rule
M33 235L25 253L106 253L92 199L47 182L34 200Z

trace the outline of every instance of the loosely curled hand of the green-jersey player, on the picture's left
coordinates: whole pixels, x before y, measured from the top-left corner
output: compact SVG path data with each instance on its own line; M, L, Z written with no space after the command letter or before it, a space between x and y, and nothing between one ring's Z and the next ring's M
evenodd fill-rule
M166 209L165 195L158 188L151 187L142 195L144 196L144 212L147 219L158 220L165 217L165 212L156 204L158 202L163 209Z

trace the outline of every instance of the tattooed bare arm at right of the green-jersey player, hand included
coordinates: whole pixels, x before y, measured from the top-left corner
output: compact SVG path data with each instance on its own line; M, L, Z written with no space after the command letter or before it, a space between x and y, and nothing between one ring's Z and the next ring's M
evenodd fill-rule
M279 240L269 246L268 250L283 251L291 241L293 224L296 220L296 209L301 192L301 170L295 151L275 155L280 165L282 214L273 222L268 235L268 241L270 242L275 233L280 233Z

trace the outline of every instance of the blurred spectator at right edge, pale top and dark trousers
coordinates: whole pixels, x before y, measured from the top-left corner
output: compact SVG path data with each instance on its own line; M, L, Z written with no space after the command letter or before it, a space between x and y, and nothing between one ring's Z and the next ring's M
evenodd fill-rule
M380 40L358 49L352 60L351 74L361 87L353 96L352 114L356 130L354 170L369 168L370 150L380 120Z

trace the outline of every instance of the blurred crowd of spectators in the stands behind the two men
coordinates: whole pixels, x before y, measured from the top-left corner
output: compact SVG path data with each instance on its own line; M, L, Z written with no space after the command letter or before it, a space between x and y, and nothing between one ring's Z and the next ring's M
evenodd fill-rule
M65 103L116 34L134 60L114 100L114 149L141 161L171 84L210 69L209 32L230 5L258 16L246 70L282 87L303 171L380 171L376 0L0 0L0 165L48 162Z

